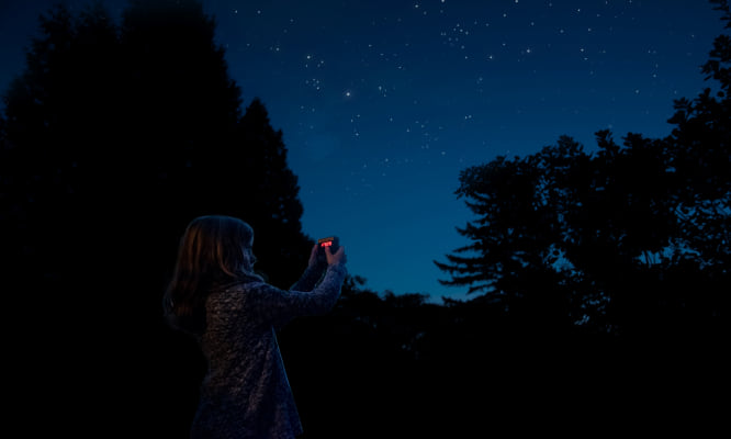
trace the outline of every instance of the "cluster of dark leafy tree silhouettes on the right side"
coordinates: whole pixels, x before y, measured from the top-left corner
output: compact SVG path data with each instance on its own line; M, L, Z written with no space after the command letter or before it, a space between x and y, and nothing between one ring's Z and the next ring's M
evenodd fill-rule
M728 29L728 2L712 3ZM618 145L600 131L586 154L563 136L463 170L457 195L476 219L458 228L471 244L435 261L450 274L442 284L495 297L533 328L715 334L728 316L730 57L721 35L702 67L716 97L676 101L666 138L629 133Z

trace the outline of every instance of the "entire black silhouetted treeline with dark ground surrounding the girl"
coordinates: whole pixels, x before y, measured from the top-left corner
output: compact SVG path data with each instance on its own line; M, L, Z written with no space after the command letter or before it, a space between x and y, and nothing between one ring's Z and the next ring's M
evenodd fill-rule
M728 27L728 2L711 3ZM243 109L200 2L131 0L121 23L109 16L101 3L42 15L4 93L3 290L26 335L13 364L33 376L18 401L56 430L185 437L204 364L160 306L183 227L206 213L249 222L280 286L313 239L282 133L260 100ZM305 437L715 425L730 57L721 35L702 68L715 88L675 102L667 138L599 132L587 154L566 136L465 169L457 196L476 219L436 263L473 299L378 293L353 275L330 314L285 327Z

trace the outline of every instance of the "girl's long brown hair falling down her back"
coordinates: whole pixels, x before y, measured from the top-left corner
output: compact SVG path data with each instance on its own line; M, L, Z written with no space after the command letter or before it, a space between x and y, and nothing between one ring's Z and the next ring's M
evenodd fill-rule
M205 300L211 290L245 280L254 273L254 230L239 218L199 216L180 238L172 277L164 296L168 323L193 335L205 330Z

